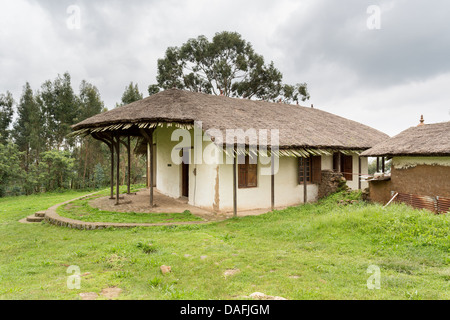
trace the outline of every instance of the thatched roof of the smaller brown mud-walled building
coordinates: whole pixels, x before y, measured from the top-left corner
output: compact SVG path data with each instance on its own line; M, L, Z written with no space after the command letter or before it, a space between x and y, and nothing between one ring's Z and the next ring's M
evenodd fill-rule
M366 157L450 156L450 121L409 128L361 155Z

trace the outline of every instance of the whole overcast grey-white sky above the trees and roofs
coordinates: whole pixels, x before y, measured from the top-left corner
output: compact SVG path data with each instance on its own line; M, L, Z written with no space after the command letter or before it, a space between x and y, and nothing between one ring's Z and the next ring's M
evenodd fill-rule
M307 106L392 136L422 114L450 121L449 13L448 0L1 0L0 93L18 101L67 71L112 108L131 81L148 95L167 47L236 31L284 82L308 83Z

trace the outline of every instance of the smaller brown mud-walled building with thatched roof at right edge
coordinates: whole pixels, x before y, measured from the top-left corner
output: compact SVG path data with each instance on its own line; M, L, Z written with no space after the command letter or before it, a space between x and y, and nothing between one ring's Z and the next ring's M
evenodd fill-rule
M363 152L392 159L391 174L370 181L370 198L405 202L435 212L450 209L450 122L409 128Z

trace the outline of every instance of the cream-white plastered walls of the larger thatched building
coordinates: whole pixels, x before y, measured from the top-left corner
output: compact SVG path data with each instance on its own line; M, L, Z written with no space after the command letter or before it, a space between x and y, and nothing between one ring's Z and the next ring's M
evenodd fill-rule
M173 163L172 150L179 141L171 141L175 127L163 127L155 130L156 168L158 190L170 197L179 198L182 193L181 165ZM197 133L199 134L199 133ZM192 145L194 130L190 131ZM201 153L191 154L191 159L201 164L189 166L189 204L221 212L233 210L233 165L232 160L222 154L207 139L201 144ZM262 174L269 171L267 158L258 158L258 186L256 188L239 189L237 192L238 210L270 208L271 177ZM227 162L228 161L228 162ZM295 157L281 157L279 170L275 175L275 207L294 206L303 203L303 185L298 184L298 160ZM358 155L353 155L353 172L358 173ZM322 156L322 170L333 169L333 156ZM362 173L368 173L368 159L362 158ZM216 185L218 183L218 186ZM358 176L347 182L352 189L358 189ZM367 183L363 182L366 188ZM318 196L318 186L307 186L308 202L314 202Z

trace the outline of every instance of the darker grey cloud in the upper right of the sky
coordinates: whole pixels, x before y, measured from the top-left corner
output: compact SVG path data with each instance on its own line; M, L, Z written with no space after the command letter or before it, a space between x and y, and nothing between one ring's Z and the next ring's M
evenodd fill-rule
M369 5L382 11L381 29L366 26ZM334 63L366 85L388 86L450 71L450 5L444 0L315 1L307 14L293 12L277 43L299 73Z

